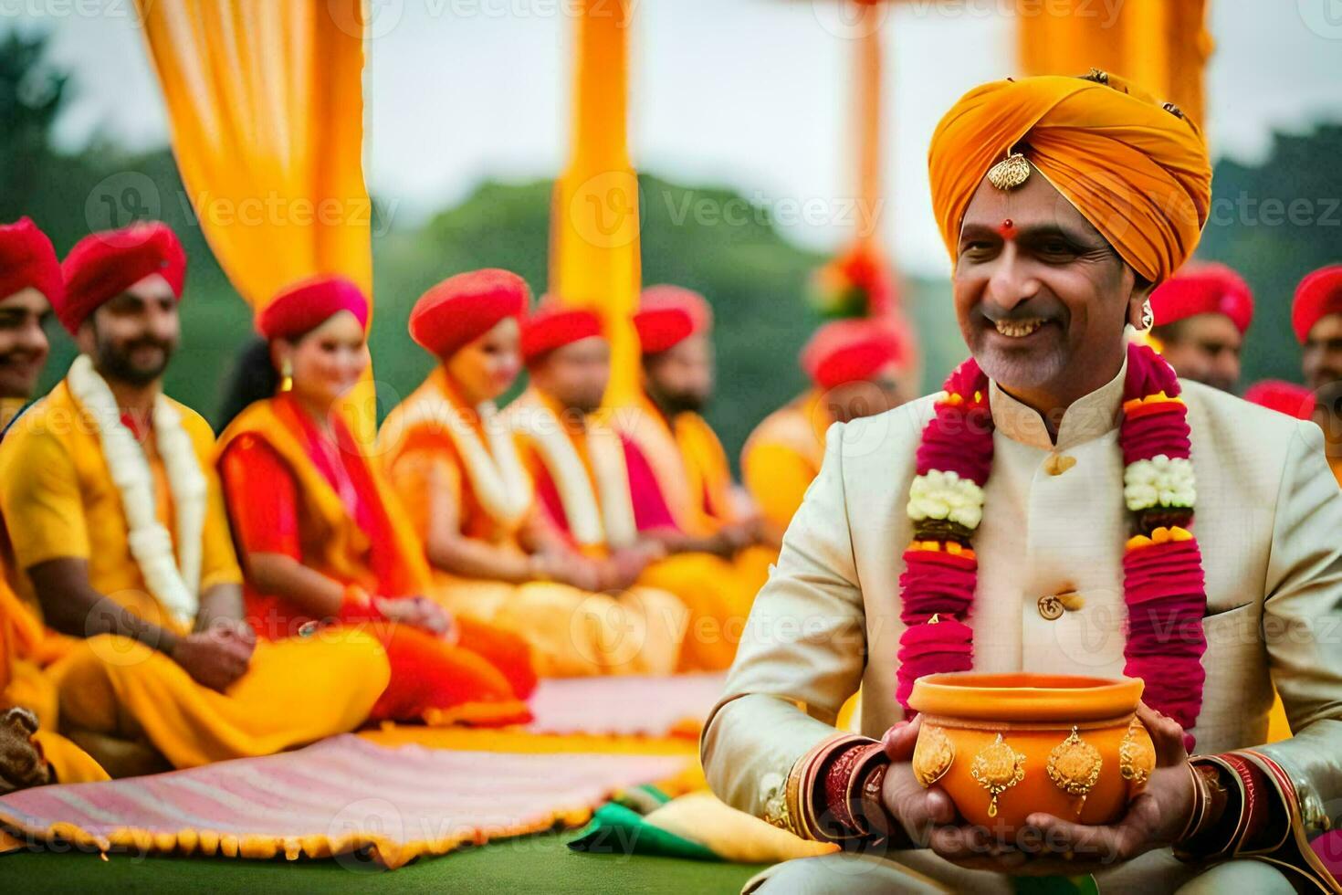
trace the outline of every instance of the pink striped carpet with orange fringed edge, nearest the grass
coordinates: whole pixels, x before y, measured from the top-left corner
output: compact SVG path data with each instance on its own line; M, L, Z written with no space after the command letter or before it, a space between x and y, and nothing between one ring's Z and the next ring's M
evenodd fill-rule
M619 789L675 776L684 755L514 754L337 737L301 751L156 777L43 786L0 798L21 836L85 848L326 857L386 865L577 825Z

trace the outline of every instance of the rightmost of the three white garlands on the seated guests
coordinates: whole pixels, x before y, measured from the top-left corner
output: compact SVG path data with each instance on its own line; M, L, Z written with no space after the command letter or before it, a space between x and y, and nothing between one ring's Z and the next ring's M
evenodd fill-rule
M616 549L632 546L637 541L624 445L615 431L596 423L586 427L592 472L601 492L599 502L582 458L548 407L526 401L509 408L507 417L514 432L535 444L541 462L560 492L564 517L574 541L582 546L605 543Z

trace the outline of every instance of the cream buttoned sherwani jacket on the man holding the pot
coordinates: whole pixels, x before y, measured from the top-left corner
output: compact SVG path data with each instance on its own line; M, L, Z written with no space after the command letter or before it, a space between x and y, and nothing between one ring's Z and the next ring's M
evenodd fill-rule
M1067 411L1056 444L1036 412L992 386L996 456L974 539L977 671L1123 672L1125 374ZM1208 596L1197 751L1263 743L1275 683L1296 735L1263 751L1291 774L1307 816L1329 802L1335 814L1342 495L1322 432L1196 382L1184 384L1184 397ZM894 692L899 576L913 534L905 507L933 401L829 429L823 470L703 731L709 782L741 810L766 813L793 762L835 734L859 684L863 734L879 738L903 717ZM1083 605L1044 617L1040 598L1064 592Z

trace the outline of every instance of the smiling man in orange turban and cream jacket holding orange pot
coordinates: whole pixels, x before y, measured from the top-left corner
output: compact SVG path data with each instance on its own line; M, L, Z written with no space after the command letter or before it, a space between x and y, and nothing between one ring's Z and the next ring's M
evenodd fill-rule
M1342 495L1321 435L1129 338L1197 244L1201 134L1103 72L1024 78L968 93L929 158L972 357L942 392L831 428L703 731L725 802L845 847L762 891L1291 891L1248 853L1333 886L1308 845L1342 804L1342 652L1322 640L1342 625ZM988 676L938 706L953 679L931 676L966 671ZM1141 679L1154 749L1092 761L1098 730L994 692L1059 675ZM859 686L860 733L839 730ZM1264 745L1274 687L1295 735ZM984 704L997 749L946 730ZM1091 786L1123 777L1145 785L1107 819Z

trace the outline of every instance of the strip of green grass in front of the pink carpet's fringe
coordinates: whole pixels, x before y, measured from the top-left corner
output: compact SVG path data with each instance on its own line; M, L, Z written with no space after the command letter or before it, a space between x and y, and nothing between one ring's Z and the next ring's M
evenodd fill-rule
M5 892L737 892L761 868L624 855L582 855L573 831L523 836L396 871L358 859L251 861L223 857L141 857L19 852L0 856Z

